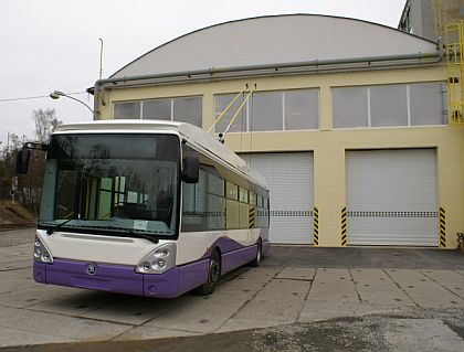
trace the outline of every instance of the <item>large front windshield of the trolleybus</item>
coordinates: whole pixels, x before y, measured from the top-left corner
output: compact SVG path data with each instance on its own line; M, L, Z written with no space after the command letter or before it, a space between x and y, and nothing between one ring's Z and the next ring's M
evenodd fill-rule
M173 135L54 135L39 228L172 236L179 164L180 143Z

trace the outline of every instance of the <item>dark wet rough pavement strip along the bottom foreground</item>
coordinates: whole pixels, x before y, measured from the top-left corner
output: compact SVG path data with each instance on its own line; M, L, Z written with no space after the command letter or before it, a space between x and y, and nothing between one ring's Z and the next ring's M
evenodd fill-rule
M235 332L136 341L61 343L0 349L1 352L203 352L203 351L462 351L462 309L410 310L339 318Z

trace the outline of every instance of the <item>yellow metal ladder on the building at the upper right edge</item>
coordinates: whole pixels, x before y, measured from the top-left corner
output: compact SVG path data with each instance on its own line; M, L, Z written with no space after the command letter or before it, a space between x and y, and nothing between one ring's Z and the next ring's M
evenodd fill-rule
M464 22L445 26L447 107L451 125L464 125Z

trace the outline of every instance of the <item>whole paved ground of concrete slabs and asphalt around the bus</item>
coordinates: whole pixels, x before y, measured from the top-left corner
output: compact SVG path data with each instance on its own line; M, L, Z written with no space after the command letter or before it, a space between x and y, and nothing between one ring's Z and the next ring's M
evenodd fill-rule
M33 230L0 233L0 351L464 351L464 253L273 246L209 297L31 278Z

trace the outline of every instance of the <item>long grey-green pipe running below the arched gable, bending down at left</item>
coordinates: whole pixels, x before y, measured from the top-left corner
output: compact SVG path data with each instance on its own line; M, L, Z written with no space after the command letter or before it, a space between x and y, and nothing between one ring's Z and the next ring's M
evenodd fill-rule
M439 50L434 53L415 53L415 54L403 54L403 55L384 55L384 56L363 56L363 57L351 57L351 58L335 58L335 60L313 60L303 62L292 63L275 63L275 64L261 64L261 65L245 65L245 66L232 66L232 67L219 67L219 68L205 68L194 71L180 71L161 74L149 74L149 75L136 75L136 76L123 76L114 78L98 79L95 82L94 87L94 111L95 119L98 110L98 97L102 86L106 84L118 84L125 82L139 82L148 79L162 79L162 78L176 78L184 77L186 79L192 78L193 76L200 75L218 75L229 74L239 72L253 72L253 71L273 71L278 72L287 68L305 68L305 67L318 67L318 66L330 66L330 65L346 65L346 64L359 64L359 63L378 63L378 62L392 62L392 61L409 61L409 60L433 60L431 63L439 63L443 58L443 50L439 43ZM304 70L300 71L304 73Z

